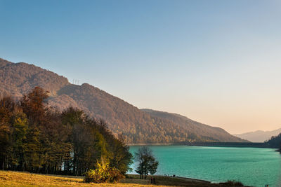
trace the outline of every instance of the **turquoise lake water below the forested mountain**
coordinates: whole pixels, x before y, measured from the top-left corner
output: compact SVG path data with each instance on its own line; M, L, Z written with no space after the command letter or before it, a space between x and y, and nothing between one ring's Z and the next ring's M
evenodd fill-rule
M131 153L139 147L130 146ZM159 161L156 174L212 182L235 179L249 186L281 186L281 155L272 148L149 147Z

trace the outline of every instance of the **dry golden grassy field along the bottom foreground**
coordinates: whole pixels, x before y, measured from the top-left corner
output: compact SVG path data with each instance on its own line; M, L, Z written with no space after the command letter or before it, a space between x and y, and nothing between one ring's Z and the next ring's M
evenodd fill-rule
M137 175L129 175L119 183L83 183L80 176L57 176L46 174L31 174L27 172L0 171L0 186L226 186L195 179L169 176L155 176L156 185L150 185L150 177L138 179Z

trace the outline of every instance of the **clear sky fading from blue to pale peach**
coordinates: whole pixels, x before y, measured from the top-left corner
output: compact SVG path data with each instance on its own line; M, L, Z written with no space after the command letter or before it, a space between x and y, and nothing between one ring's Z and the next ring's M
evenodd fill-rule
M0 0L0 57L230 133L281 127L279 0Z

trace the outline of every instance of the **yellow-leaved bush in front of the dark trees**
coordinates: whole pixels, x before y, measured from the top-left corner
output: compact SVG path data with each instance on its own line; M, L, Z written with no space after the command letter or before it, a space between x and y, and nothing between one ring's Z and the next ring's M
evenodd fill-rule
M110 167L110 163L101 159L97 161L96 169L90 169L85 173L86 183L115 183L124 179L124 175L115 167Z

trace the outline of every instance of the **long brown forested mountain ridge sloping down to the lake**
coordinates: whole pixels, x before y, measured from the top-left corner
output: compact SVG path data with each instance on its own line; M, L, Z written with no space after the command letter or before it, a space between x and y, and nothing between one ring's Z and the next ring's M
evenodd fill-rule
M89 116L103 118L110 130L114 134L124 134L129 144L244 141L221 128L197 123L184 116L148 109L141 111L92 85L71 84L67 78L32 64L0 59L0 97L11 95L19 99L35 86L50 92L48 103L51 106L58 109L74 106Z

